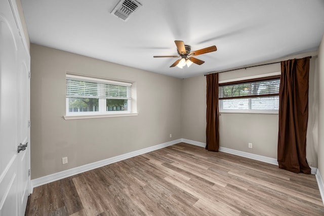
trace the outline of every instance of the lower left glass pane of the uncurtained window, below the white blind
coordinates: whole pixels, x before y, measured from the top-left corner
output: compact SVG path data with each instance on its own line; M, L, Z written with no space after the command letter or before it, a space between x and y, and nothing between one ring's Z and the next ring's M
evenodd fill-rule
M97 112L98 98L69 98L69 112Z

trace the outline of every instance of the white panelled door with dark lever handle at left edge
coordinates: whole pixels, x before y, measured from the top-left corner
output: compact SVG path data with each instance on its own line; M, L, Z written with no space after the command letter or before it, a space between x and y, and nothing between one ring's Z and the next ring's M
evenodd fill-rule
M0 0L0 216L24 215L29 194L29 54L15 0Z

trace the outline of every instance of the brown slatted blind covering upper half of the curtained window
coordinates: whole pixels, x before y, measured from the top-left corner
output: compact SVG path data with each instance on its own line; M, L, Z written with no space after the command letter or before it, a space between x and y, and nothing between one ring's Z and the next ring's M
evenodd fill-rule
M219 99L226 100L278 96L279 85L280 75L220 83ZM239 101L237 101L237 103L239 103ZM255 104L257 106L257 102Z

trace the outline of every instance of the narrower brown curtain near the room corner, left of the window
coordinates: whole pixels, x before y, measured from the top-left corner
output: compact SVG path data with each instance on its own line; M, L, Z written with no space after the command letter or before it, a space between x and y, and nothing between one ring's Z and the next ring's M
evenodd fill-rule
M219 119L218 119L218 73L206 75L207 80L207 126L206 149L219 150Z

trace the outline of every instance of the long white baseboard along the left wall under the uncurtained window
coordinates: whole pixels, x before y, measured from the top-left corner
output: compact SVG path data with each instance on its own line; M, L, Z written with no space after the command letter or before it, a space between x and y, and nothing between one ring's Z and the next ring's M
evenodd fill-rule
M67 170L64 170L64 171L56 172L55 174L51 174L51 175L44 176L44 177L41 177L41 178L33 179L33 180L31 180L31 188L41 186L41 185L45 185L45 184L48 184L48 183L51 183L51 182L54 182L54 181L57 181L57 180L60 180L60 179L64 179L64 178L67 178L67 177L70 177L70 176L74 176L74 175L79 174L81 172L89 171L91 169L99 168L101 166L105 166L105 165L108 165L108 164L111 164L111 163L118 162L120 160L125 160L125 159L131 158L131 157L135 157L137 155L141 155L141 154L151 152L151 151L154 151L154 150L157 150L157 149L165 148L167 146L172 146L174 144L181 143L181 142L182 142L182 139L178 139L178 140L170 141L170 142L167 142L167 143L159 144L159 145L156 145L156 146L151 146L151 147L148 147L148 148L145 148L145 149L140 149L140 150L133 151L133 152L130 152L130 153L126 153L126 154L118 155L118 156L115 156L115 157L107 158L107 159L100 160L100 161L97 161L97 162L89 163L89 164L86 164L86 165L83 165L83 166L78 166L78 167L74 167L74 168L67 169Z

